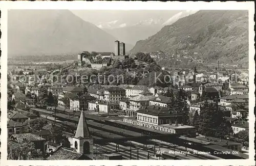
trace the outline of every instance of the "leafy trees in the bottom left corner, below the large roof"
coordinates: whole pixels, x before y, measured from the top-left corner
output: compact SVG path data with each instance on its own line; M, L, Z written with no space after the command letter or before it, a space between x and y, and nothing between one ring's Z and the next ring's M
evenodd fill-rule
M7 144L8 159L29 160L34 157L42 157L42 153L35 149L35 144L30 141L14 143L8 141Z

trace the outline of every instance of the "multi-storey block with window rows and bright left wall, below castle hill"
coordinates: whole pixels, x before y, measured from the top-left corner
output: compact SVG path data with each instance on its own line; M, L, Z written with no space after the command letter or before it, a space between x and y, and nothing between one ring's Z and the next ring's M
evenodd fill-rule
M104 100L119 104L119 101L125 97L125 90L119 87L110 87L104 91Z

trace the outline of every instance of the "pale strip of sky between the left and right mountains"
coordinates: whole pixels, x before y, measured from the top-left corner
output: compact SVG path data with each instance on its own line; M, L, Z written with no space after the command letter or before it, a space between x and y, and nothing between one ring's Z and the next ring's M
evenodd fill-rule
M100 28L115 29L138 24L163 24L181 10L72 10Z

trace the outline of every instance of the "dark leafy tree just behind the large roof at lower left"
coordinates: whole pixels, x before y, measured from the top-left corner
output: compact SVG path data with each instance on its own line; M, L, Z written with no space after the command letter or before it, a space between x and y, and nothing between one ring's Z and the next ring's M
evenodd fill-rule
M47 125L45 118L31 119L24 122L24 132L39 131L42 127Z

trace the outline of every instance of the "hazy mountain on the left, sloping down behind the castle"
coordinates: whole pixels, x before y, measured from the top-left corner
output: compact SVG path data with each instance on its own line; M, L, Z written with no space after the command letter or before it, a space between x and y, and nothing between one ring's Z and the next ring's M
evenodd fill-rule
M8 56L114 51L115 40L69 10L8 12Z

